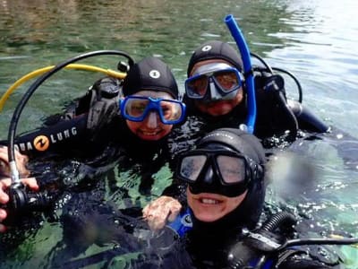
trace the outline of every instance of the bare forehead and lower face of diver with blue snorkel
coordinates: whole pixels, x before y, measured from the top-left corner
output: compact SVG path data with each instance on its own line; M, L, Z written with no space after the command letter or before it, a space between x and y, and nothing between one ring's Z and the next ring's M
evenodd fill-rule
M191 75L202 65L208 65L212 63L225 63L231 65L230 63L217 59L217 60L205 60L197 63L192 67ZM213 101L203 101L195 100L195 106L202 112L209 114L210 116L222 116L230 113L237 105L243 101L243 89L237 91L237 94L232 100L213 100Z

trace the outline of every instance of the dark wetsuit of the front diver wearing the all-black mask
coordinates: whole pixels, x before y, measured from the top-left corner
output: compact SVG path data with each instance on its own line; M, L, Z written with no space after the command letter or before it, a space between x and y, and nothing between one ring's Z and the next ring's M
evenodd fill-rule
M115 217L114 217L115 218ZM232 218L222 219L217 222L200 223L193 220L193 229L183 235L182 238L177 236L173 230L165 228L157 234L151 234L145 231L145 225L132 225L132 230L137 230L132 234L127 234L128 244L115 250L104 251L95 256L88 256L75 262L66 264L66 268L72 268L67 265L93 265L95 263L106 263L111 265L116 258L128 253L140 252L141 256L126 259L126 265L129 268L197 268L197 269L216 269L216 268L243 268L234 267L234 261L228 259L234 246L240 244L246 235L243 234L242 225L234 225ZM134 222L132 222L134 223ZM138 222L137 222L138 223ZM237 223L237 221L236 221ZM125 227L125 226L124 226ZM123 228L122 228L123 230ZM121 229L113 232L119 235ZM138 230L141 230L139 236ZM278 234L291 239L294 231L280 231ZM144 239L143 235L150 235ZM122 235L123 236L123 235ZM115 238L118 240L121 237ZM108 240L108 238L107 238ZM117 241L118 242L118 241ZM136 243L135 243L136 242ZM120 241L118 242L120 243ZM133 248L134 247L134 248ZM139 247L135 249L135 247ZM244 248L238 251L240 260L245 261L246 266L256 265L262 252L255 247ZM266 253L267 255L267 253ZM334 249L326 246L311 247L289 247L276 254L267 255L268 258L264 264L264 269L341 269L342 260L337 256ZM96 259L94 259L96 257ZM246 263L247 262L247 263ZM243 266L243 265L242 265ZM76 267L73 267L76 268ZM103 266L103 268L107 268ZM246 267L244 267L246 268Z

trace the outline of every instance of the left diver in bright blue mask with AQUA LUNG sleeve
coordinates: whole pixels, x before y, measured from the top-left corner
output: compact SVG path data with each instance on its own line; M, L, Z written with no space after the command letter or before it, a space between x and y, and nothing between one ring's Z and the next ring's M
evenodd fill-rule
M71 190L86 193L91 187L103 190L98 187L104 184L98 182L101 181L98 175L112 169L118 160L121 160L119 169L141 166L136 173L142 176L140 192L146 195L154 180L152 175L170 160L169 138L184 115L185 106L178 100L174 75L160 59L149 56L130 66L123 81L106 77L96 82L64 116L51 117L47 126L16 137L15 143L19 152L29 155L31 161L34 157L35 161L41 160L39 168L30 168L31 176L38 179L40 190L46 190L47 186L55 188L56 197ZM46 160L47 155L69 167L62 171L58 167L44 170L41 165L47 162L42 158ZM18 162L25 164L23 158ZM4 170L8 170L6 156L2 160ZM115 187L115 182L111 184ZM37 188L33 186L31 181L30 187ZM1 181L0 197L5 197L0 199L1 204L8 203L8 187L7 181ZM72 204L83 207L85 203L81 200ZM11 208L0 208L0 222Z

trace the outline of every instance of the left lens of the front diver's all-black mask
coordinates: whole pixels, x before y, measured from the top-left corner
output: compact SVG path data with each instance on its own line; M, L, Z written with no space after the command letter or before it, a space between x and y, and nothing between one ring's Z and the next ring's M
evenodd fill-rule
M207 159L206 155L184 157L180 164L180 176L188 181L196 181Z

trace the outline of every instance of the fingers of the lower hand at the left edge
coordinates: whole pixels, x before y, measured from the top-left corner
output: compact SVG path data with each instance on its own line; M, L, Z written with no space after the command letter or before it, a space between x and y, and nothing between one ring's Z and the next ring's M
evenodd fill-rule
M31 190L38 190L36 178L22 178L21 182L30 187ZM1 222L6 219L7 212L1 207L1 205L9 202L9 195L6 194L6 190L11 186L11 183L11 178L4 178L0 180L0 233L6 231L6 227Z

